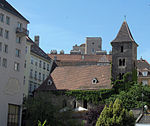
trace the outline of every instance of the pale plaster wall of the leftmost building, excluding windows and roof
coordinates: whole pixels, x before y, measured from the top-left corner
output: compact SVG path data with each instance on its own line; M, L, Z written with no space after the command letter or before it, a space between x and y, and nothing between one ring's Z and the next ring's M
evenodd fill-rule
M7 59L7 68L0 65L0 126L7 125L8 104L22 105L23 97L23 75L25 60L25 37L22 38L21 44L16 43L16 28L18 21L27 29L27 22L0 9L0 13L4 14L4 23L0 22L3 28L3 37L0 37L2 47L8 45L8 53L0 52L1 60ZM6 15L10 17L10 25L7 25ZM9 39L4 38L5 29L9 31ZM15 50L21 50L20 58L15 56ZM14 62L20 64L20 70L14 70ZM21 118L20 118L21 119Z

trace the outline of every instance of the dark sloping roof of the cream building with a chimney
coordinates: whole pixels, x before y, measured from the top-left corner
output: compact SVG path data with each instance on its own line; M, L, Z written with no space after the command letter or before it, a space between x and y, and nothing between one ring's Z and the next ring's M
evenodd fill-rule
M32 43L31 45L32 53L35 53L36 55L43 57L49 61L51 60L51 58L38 45L36 45L35 42L33 42L31 38L26 37L26 39L28 42Z

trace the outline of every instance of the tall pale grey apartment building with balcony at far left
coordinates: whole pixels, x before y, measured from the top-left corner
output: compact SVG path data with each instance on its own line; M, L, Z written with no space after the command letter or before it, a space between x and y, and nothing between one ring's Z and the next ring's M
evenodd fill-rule
M25 19L0 0L0 126L20 126L23 98Z

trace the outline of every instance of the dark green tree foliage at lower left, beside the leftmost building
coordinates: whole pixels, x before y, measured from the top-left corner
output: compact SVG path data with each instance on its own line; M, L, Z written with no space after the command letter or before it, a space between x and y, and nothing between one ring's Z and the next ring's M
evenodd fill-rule
M25 107L27 109L26 119L30 120L28 126L36 126L38 120L47 121L49 126L79 126L71 119L72 111L60 112L62 107L52 104L49 93L38 93L35 97L29 98Z

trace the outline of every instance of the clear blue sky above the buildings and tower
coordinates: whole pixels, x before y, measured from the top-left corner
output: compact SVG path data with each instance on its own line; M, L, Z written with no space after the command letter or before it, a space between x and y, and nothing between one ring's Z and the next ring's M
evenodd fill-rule
M125 20L138 43L138 59L150 62L150 0L7 0L26 19L29 36L40 36L46 52L85 43L86 37L101 37L108 53Z

